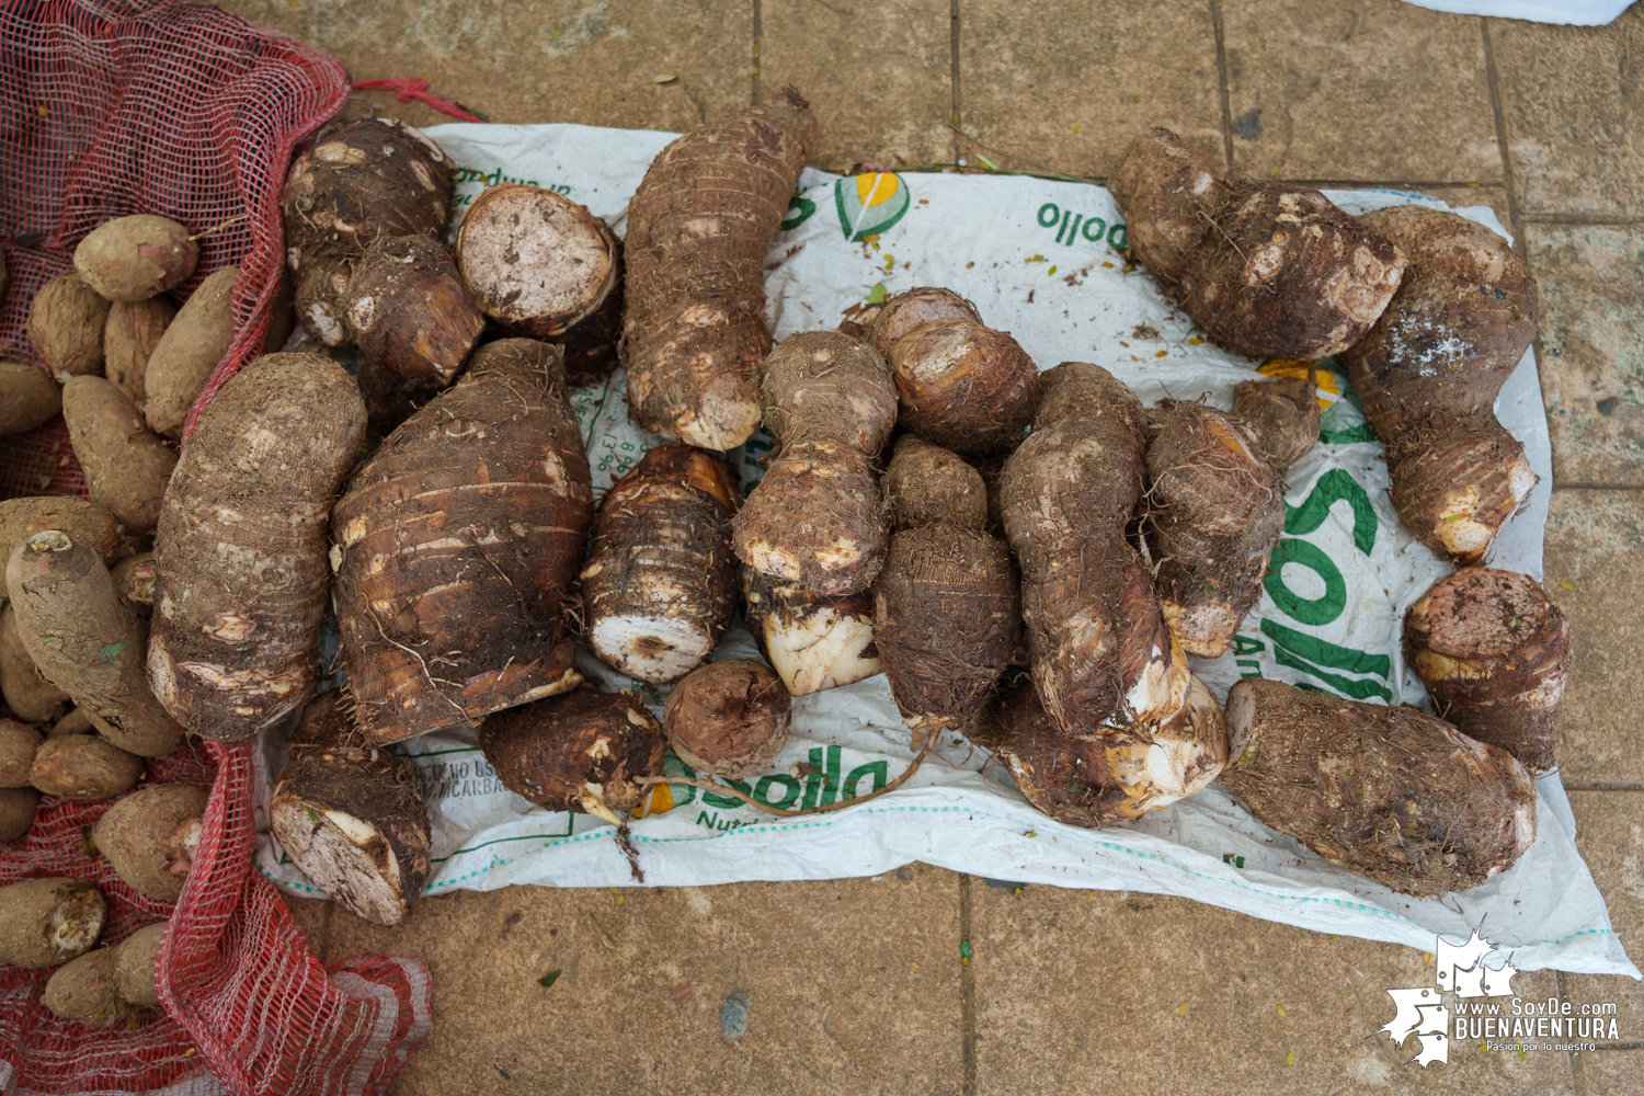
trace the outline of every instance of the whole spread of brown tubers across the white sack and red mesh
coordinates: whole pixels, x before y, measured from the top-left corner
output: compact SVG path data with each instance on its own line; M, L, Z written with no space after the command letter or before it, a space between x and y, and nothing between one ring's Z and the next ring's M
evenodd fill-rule
M301 718L273 830L316 886L395 923L429 813L393 743L477 726L510 789L623 827L669 748L700 779L756 774L791 697L883 672L916 744L968 736L1060 822L1123 823L1220 777L1401 892L1512 864L1570 639L1534 580L1476 565L1535 481L1491 412L1535 334L1508 242L1233 182L1167 130L1129 146L1111 189L1159 289L1233 352L1345 363L1401 521L1460 565L1404 623L1442 718L1261 679L1221 705L1187 654L1220 654L1259 596L1284 468L1318 437L1314 378L1246 381L1231 411L1146 408L1100 366L1041 371L937 286L773 347L761 263L814 141L789 89L669 145L621 243L516 184L447 243L446 154L393 122L335 125L281 199L306 337L224 385L181 454L235 271L174 311L191 227L85 237L33 302L46 368L0 366L0 429L61 409L90 495L0 503L0 836L41 795L123 797L92 840L176 897L202 792L133 792L143 758ZM618 363L667 440L595 506L566 391ZM723 454L761 424L778 450L743 498ZM347 685L316 697L329 605ZM766 662L710 662L738 606ZM672 682L663 718L589 687L579 642ZM158 933L90 950L89 886L0 891L0 961L84 953L46 994L64 1015L155 1007Z

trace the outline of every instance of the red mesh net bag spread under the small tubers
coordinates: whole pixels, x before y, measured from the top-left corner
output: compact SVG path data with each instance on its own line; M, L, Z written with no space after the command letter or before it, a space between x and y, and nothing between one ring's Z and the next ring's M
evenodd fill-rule
M161 214L204 230L199 269L240 266L237 335L194 406L260 352L279 283L278 196L298 140L347 95L342 66L256 23L196 3L0 2L0 246L12 286L0 355L31 361L35 291L69 269L90 228ZM192 417L189 426L192 426ZM0 498L84 495L62 421L0 437ZM429 1029L427 969L365 956L329 973L273 884L252 869L252 748L196 743L148 766L153 782L210 785L204 836L174 907L89 854L109 804L43 799L35 828L0 845L0 884L64 874L109 897L104 943L169 915L164 1014L94 1030L39 1004L48 971L0 966L5 1093L386 1093Z

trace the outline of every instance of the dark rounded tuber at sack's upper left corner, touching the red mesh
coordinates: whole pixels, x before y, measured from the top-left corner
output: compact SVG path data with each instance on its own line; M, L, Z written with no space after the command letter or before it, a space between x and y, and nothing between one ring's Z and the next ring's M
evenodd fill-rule
M380 237L437 237L455 186L450 159L421 130L393 118L340 123L291 159L279 192L286 246L352 260Z

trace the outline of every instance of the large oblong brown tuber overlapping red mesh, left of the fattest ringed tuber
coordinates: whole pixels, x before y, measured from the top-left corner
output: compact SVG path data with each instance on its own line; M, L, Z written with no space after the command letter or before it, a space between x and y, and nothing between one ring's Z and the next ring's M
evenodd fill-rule
M184 728L242 741L314 692L326 521L363 432L353 378L309 353L258 358L201 412L155 534L148 644Z

